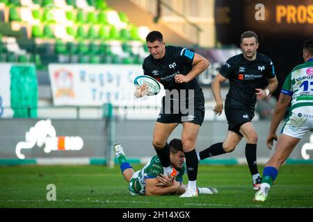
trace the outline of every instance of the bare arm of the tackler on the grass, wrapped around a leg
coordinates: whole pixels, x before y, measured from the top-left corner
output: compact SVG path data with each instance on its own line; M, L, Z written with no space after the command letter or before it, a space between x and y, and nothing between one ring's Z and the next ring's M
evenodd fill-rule
M180 188L180 182L173 180L170 187L157 186L159 180L157 178L145 179L145 195L146 196L158 196L164 194L176 193Z

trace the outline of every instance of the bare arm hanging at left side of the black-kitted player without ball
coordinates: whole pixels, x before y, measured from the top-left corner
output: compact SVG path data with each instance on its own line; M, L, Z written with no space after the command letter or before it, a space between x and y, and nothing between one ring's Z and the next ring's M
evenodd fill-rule
M216 105L214 107L214 113L222 114L223 112L223 100L222 96L220 96L220 84L224 83L227 80L227 78L223 77L219 72L216 75L216 77L212 80L211 86L212 86L212 92L214 95L214 99L216 101Z

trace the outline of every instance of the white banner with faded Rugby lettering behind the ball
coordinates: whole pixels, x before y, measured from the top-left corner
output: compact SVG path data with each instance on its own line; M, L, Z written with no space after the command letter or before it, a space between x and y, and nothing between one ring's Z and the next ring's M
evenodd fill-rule
M139 75L143 75L141 65L49 65L54 105L160 107L163 85L157 96L134 96L134 79Z

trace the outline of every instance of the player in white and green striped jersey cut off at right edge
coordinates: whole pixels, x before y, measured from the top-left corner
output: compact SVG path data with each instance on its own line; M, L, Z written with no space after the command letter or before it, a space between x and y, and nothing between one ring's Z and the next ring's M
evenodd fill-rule
M313 39L305 41L303 59L305 63L296 66L284 81L273 113L266 139L269 149L273 146L273 140L278 138L276 130L291 101L289 117L278 138L275 153L264 168L261 188L255 194L257 201L266 200L280 166L287 160L300 139L307 132L313 131Z

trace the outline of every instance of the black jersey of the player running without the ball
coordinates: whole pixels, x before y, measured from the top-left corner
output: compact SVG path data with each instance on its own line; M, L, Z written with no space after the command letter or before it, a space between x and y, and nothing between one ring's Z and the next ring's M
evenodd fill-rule
M257 53L252 61L246 60L243 53L233 56L220 68L220 74L230 80L230 90L226 96L228 105L240 102L254 106L257 98L255 89L264 87L264 79L275 77L273 62L262 53Z

